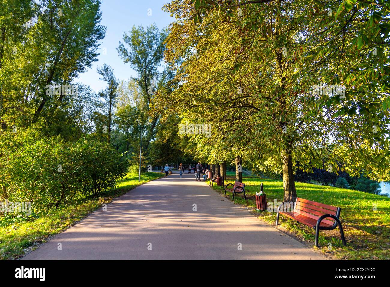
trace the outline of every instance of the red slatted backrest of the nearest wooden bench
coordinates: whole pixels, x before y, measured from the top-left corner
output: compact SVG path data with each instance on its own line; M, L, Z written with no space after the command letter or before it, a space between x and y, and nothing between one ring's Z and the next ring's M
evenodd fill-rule
M294 212L313 219L318 219L324 214L332 214L336 217L340 216L340 209L338 207L299 197L296 199L294 205ZM322 222L333 225L335 223L335 220L332 217L326 217L325 219L323 219Z

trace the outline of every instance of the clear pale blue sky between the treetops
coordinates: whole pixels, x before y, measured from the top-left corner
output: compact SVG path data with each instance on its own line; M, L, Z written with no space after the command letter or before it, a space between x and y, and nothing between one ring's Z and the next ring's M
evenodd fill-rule
M129 63L123 62L116 50L119 41L123 42L123 32L128 33L133 25L146 27L153 22L160 30L168 27L174 18L170 17L169 13L162 11L161 8L169 2L170 0L103 0L101 25L107 27L107 30L106 37L101 41L98 50L100 55L97 59L99 61L94 62L92 68L80 74L80 77L74 79L74 82L87 84L96 92L103 89L106 84L99 80L96 67L103 66L104 63L113 68L114 74L119 80L135 77L135 71L130 68ZM151 16L148 16L148 9L151 9ZM106 54L103 54L104 48L106 48Z

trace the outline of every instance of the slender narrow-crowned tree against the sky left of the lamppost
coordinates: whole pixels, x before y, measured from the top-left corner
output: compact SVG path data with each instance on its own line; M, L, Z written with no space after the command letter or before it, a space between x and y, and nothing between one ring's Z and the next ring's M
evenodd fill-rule
M119 80L117 80L115 77L112 68L107 64L104 64L103 67L97 67L97 72L101 75L99 80L103 80L107 83L105 90L100 91L99 94L105 100L105 108L108 112L108 142L110 142L112 115L117 98L117 87L119 85Z

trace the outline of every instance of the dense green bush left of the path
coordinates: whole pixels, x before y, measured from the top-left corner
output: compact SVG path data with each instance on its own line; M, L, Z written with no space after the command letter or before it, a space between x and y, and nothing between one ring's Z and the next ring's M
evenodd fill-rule
M1 134L0 200L29 201L34 212L50 210L96 196L126 174L128 161L110 144L28 135Z

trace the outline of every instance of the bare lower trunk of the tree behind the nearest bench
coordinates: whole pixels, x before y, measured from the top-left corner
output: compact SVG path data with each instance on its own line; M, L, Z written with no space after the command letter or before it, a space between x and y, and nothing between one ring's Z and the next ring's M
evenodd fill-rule
M282 150L282 170L283 170L283 201L296 200L296 189L293 174L293 159L291 157L291 150Z

